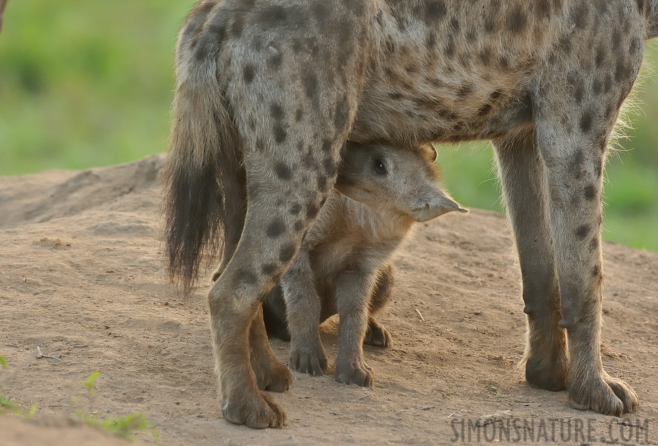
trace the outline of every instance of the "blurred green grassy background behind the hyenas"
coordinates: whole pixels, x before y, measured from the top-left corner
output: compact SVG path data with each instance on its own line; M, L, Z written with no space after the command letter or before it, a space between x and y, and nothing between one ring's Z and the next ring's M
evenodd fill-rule
M176 32L193 0L11 0L0 34L0 175L81 169L166 149ZM647 61L658 61L656 45ZM653 63L651 63L653 62ZM658 251L658 75L645 68L627 150L609 159L603 238ZM632 150L631 150L632 149ZM465 206L501 212L489 144L441 147Z

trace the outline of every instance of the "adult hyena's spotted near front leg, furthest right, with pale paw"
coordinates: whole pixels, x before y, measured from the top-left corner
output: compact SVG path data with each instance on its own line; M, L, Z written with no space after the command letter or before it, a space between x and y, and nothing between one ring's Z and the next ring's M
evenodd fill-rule
M617 116L617 109L614 116L605 116L605 105L574 113L576 128L547 118L538 122L537 132L559 277L559 326L567 329L569 340L569 403L621 416L635 410L638 399L629 385L605 373L601 362L601 187L607 140Z

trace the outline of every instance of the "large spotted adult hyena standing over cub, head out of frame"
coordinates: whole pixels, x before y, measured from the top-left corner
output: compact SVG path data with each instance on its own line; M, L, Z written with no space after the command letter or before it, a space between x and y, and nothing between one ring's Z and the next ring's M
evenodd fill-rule
M199 2L176 47L166 239L188 288L201 257L222 251L208 299L224 418L286 423L263 392L291 378L261 299L347 139L492 139L528 315L526 380L568 389L578 409L636 409L599 352L601 180L644 40L657 36L658 0Z

